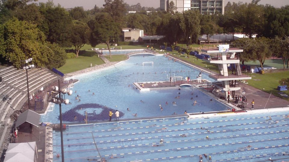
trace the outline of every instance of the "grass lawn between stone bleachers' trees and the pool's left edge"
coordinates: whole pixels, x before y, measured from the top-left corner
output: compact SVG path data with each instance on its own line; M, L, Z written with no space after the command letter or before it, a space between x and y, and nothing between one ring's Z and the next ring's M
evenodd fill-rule
M59 67L57 70L61 71L62 73L71 73L74 71L82 70L85 68L94 65L104 64L101 58L98 58L98 55L94 51L85 51L77 58L69 58L66 60L66 63Z

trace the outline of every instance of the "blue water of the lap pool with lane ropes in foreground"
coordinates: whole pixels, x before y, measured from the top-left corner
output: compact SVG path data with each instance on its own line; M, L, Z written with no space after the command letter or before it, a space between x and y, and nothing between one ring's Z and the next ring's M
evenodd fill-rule
M281 111L69 126L64 131L65 161L98 159L96 147L101 157L112 162L147 159L191 162L199 161L201 154L211 156L212 161L253 162L289 158L287 113ZM268 120L268 116L272 120ZM276 121L279 122L274 124ZM181 137L182 134L186 137ZM207 136L209 139L206 139ZM160 143L161 139L163 143ZM61 153L60 143L60 133L54 131L54 161L61 161L56 158L57 153ZM252 147L246 148L248 145ZM109 158L112 154L118 158ZM208 159L203 156L203 161Z

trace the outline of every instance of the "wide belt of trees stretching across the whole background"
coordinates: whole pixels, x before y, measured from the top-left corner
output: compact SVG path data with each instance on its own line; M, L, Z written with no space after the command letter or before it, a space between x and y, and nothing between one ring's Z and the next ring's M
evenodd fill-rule
M59 53L56 47L63 52L63 47L74 46L76 56L84 44L95 46L105 43L110 49L110 43L117 42L121 29L126 27L144 29L144 33L148 35L164 35L164 41L169 45L177 45L179 42L196 43L200 34L206 34L208 41L210 35L215 33L244 32L249 37L257 34L258 37L264 37L264 40L278 36L282 41L285 41L285 36L289 34L289 6L275 8L258 5L259 0L253 0L249 4L228 2L224 15L219 13L201 15L197 10L175 13L173 3L170 4L169 12L165 12L141 7L140 4L129 6L123 0L105 0L103 7L99 8L95 5L92 10L84 10L82 7L64 9L60 5L54 5L52 1L27 4L31 1L36 0L2 0L0 2L2 61L8 60L17 67L21 66L19 61L24 60L25 57L40 58L42 55L40 48L47 50L48 58L56 56L50 55L51 52L48 52L48 49ZM128 14L128 10L138 12ZM155 12L147 13L146 10ZM11 25L13 23L27 24L27 26L13 27ZM15 34L7 34L12 29L23 33L19 34L20 43L15 40ZM35 30L34 34L38 33L35 37L25 34L32 29ZM32 45L26 46L26 42L38 43L39 49L29 49ZM52 45L55 48L52 48ZM23 55L18 57L20 53ZM64 52L61 55L64 55ZM65 60L65 56L59 58ZM247 59L249 58L244 57L244 60ZM50 66L45 60L38 62L34 60L39 66ZM48 60L48 62L51 61ZM51 66L59 67L62 64Z

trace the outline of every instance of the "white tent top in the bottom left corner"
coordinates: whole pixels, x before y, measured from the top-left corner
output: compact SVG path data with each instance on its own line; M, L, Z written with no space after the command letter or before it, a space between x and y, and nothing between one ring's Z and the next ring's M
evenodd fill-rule
M4 162L35 162L36 142L9 143Z

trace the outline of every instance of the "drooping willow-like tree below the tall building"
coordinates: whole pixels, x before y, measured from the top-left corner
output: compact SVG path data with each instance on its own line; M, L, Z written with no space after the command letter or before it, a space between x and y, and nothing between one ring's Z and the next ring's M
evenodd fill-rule
M191 42L197 43L200 35L200 12L198 10L187 10L183 12L185 25L183 31L187 45Z

